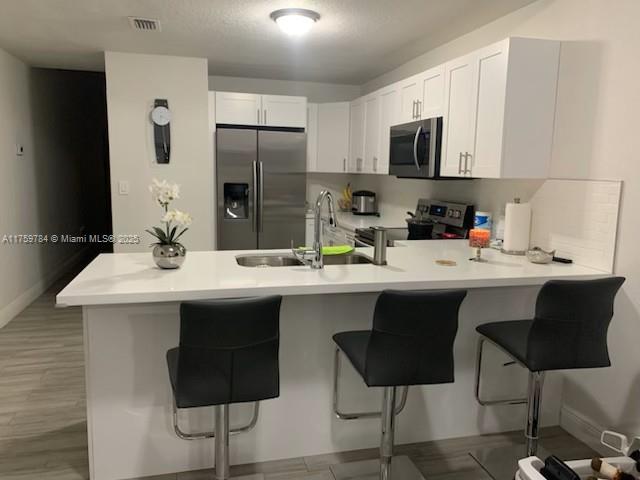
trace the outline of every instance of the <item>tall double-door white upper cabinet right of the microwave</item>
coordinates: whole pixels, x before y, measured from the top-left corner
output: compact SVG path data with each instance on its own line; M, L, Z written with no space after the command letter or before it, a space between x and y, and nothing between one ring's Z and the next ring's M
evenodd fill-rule
M510 38L446 64L442 175L548 176L559 54Z

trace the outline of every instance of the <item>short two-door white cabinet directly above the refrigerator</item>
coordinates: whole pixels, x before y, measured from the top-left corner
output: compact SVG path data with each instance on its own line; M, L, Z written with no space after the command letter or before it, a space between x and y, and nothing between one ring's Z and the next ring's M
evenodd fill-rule
M216 92L216 121L230 125L307 126L307 99L288 95Z

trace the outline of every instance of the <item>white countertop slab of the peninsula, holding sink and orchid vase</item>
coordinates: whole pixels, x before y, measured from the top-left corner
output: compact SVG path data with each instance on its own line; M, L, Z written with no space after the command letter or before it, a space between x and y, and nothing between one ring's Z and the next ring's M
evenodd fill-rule
M470 262L466 240L431 240L387 249L388 265L241 267L235 256L279 250L188 252L180 269L160 270L151 252L99 255L57 296L61 306L173 302L251 295L376 292L387 288L437 289L541 285L554 278L597 278L606 272L580 265L535 265L524 257L485 249L488 263ZM373 248L358 248L373 254ZM280 250L280 252L287 252ZM288 253L288 252L287 252ZM455 260L454 267L437 259Z

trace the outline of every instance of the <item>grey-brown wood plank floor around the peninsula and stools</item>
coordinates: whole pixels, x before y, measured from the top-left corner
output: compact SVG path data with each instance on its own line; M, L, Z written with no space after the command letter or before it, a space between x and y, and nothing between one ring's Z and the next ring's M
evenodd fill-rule
M87 434L79 308L55 309L63 279L0 329L0 479L88 479ZM543 429L543 446L563 459L595 455L559 427ZM470 452L522 441L521 432L401 445L430 480L490 480ZM333 480L329 467L377 458L377 449L233 466L256 480ZM114 459L117 461L117 459ZM148 480L211 479L212 472Z

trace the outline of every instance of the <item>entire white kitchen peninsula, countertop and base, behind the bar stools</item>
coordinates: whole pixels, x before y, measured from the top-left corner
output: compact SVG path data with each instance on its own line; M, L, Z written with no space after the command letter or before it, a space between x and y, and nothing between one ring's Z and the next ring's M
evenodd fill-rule
M358 249L372 255L372 249ZM466 288L455 343L455 383L412 387L397 422L396 443L521 428L521 406L481 408L474 399L475 327L530 317L539 287L550 279L589 279L607 273L580 265L534 265L524 257L485 250L470 262L466 241L411 242L387 250L388 265L248 268L235 256L251 252L189 252L179 270L162 271L150 253L98 256L62 292L59 306L82 306L87 381L89 461L93 480L122 480L210 468L213 443L184 441L173 432L165 353L178 343L179 303L185 300L281 294L280 397L262 402L249 433L231 437L231 463L248 463L369 448L379 421L343 422L332 402L333 333L371 326L384 289ZM256 252L258 253L258 252ZM264 251L260 252L264 253ZM441 266L435 260L453 260ZM522 393L525 372L502 367L499 352L483 363L483 396ZM345 410L378 409L344 362ZM485 381L486 379L486 381ZM560 375L545 384L543 423L557 424ZM250 406L234 406L232 425ZM212 426L210 409L181 412L185 428ZM345 425L345 423L347 423Z

